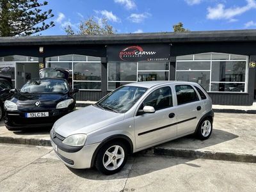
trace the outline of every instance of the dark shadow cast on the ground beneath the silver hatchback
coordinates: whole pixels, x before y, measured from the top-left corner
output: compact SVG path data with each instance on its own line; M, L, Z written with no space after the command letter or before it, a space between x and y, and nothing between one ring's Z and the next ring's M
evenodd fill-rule
M127 164L125 165L124 169L116 173L115 175L102 175L99 173L95 168L91 169L82 169L76 170L73 168L67 167L72 173L76 174L79 177L83 177L84 179L91 179L91 180L113 180L113 179L124 179L127 177L127 172L129 173L132 170L132 175L129 177L137 177L140 175L146 175L148 173L157 172L159 170L163 170L166 168L170 168L171 166L177 166L179 164L186 164L187 166L192 166L194 168L200 168L197 164L189 163L198 158L175 158L172 156L159 156L158 158L150 158L148 154L152 154L154 148L159 147L172 147L172 145L186 145L191 146L194 150L209 147L212 145L217 145L223 143L225 141L233 140L238 138L236 134L232 134L227 131L222 131L219 129L214 130L212 132L211 137L208 140L197 140L193 136L186 136L184 138L179 138L177 140L173 140L162 145L157 145L156 147L148 148L147 150L142 150L140 152L136 152L129 157ZM151 151L151 152L148 152ZM166 161L166 158L170 159L170 161ZM147 162L147 163L143 163ZM166 163L167 162L167 163ZM138 168L137 166L140 166Z

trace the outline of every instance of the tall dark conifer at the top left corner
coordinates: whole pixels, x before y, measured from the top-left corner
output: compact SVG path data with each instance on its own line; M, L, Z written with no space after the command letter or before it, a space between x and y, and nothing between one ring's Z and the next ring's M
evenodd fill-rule
M47 1L0 0L0 36L26 36L52 28L54 22L45 20L54 17L52 10L42 11Z

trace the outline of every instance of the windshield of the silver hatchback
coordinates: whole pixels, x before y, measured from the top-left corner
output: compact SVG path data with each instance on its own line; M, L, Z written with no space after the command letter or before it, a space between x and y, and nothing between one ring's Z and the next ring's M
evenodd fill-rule
M111 92L106 98L100 100L95 105L99 108L125 113L137 102L147 91L147 88L138 86L122 86Z

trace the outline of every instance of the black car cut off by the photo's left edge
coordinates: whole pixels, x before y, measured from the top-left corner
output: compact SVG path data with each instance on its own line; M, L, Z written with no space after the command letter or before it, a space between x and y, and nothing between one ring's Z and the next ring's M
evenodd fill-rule
M12 88L12 78L0 76L0 120L4 115L4 101L13 95L10 93Z

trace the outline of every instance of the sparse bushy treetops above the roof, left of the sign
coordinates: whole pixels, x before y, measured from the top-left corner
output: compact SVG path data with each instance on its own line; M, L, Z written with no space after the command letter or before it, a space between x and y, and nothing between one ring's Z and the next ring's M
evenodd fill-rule
M87 20L81 21L79 31L76 33L70 25L65 28L67 35L99 35L99 34L114 34L116 30L113 26L108 24L108 19L102 18L100 20L95 17L88 17Z

